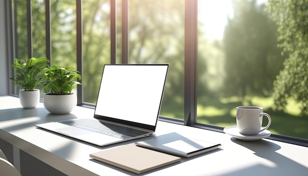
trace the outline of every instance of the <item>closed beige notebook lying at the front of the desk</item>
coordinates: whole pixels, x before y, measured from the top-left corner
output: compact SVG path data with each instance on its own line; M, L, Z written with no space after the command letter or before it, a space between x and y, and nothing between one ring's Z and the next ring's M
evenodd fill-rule
M181 161L181 157L138 147L135 144L95 152L90 154L90 157L136 174Z

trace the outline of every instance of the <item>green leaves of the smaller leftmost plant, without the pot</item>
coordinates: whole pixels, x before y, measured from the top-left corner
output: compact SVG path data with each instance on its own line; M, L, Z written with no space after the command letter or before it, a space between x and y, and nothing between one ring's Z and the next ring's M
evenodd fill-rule
M14 82L15 87L19 86L25 90L38 88L46 83L48 62L47 58L15 59L12 68L16 71L10 80Z

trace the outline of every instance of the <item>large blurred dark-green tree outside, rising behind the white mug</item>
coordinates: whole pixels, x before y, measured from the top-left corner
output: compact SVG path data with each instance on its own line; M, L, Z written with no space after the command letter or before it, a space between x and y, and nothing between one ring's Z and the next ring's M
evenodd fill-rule
M277 26L264 4L241 0L233 5L223 38L225 96L237 95L242 102L252 95L271 96L284 59L277 48Z

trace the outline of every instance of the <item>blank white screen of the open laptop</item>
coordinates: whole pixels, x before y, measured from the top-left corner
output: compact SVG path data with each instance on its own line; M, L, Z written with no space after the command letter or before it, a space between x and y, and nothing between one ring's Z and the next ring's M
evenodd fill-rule
M95 115L155 126L168 65L105 65Z

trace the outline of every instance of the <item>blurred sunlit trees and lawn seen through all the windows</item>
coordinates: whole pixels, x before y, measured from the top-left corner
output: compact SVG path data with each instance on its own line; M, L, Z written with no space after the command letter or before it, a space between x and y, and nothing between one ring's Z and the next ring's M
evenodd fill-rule
M28 57L26 2L12 2L20 59ZM45 57L45 1L31 2L33 57ZM300 48L292 35L303 29L299 37L307 36L308 26L297 25L305 21L305 13L297 23L299 15L284 10L306 11L307 18L307 4L307 0L198 0L197 122L235 125L236 106L261 106L272 117L272 133L308 139L308 45L301 40ZM128 9L129 63L170 64L160 115L183 119L185 0L129 0ZM117 63L122 57L121 10L117 0ZM95 104L103 65L110 63L110 2L83 0L82 13L84 102ZM278 18L279 13L284 16ZM282 28L286 19L295 25ZM52 64L76 67L75 0L51 0L51 36ZM288 66L294 58L302 65ZM305 70L286 73L292 68ZM298 73L303 74L297 78ZM286 75L291 75L288 82ZM292 89L288 84L292 80L302 87Z

